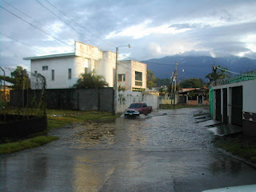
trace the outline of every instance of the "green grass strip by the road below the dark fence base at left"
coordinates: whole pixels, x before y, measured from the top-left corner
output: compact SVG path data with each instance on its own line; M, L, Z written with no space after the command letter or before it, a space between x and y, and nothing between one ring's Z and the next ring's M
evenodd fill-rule
M38 136L36 138L30 138L19 142L10 142L0 145L0 154L12 154L21 150L32 149L34 147L45 145L48 142L57 140L54 136Z

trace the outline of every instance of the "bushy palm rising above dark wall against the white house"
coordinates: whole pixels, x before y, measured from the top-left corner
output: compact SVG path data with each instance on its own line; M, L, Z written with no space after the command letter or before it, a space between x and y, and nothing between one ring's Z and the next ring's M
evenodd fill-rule
M101 75L90 74L81 74L78 82L74 84L75 88L92 88L97 89L100 87L108 86L108 83Z

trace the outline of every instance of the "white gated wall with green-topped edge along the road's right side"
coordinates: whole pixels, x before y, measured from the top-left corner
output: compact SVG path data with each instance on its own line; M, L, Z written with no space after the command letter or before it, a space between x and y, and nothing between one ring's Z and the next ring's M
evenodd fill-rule
M210 113L226 124L242 126L246 136L256 137L256 72L211 83Z

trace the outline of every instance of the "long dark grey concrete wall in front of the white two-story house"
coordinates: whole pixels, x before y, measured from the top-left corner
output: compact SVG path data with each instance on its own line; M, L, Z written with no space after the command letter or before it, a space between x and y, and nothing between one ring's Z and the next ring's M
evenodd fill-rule
M30 90L29 97L33 98L35 91ZM26 92L24 93L26 98ZM10 105L20 106L22 90L10 93ZM31 99L29 99L31 100ZM46 108L58 110L100 110L113 112L113 88L100 89L50 89L46 90ZM26 106L26 102L25 102Z

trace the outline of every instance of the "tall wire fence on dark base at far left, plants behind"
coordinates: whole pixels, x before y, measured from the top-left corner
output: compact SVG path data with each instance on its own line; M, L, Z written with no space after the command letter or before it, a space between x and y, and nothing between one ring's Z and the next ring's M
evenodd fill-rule
M0 68L0 142L46 130L46 79L21 66ZM14 98L12 91L18 93ZM10 105L12 100L15 105Z

